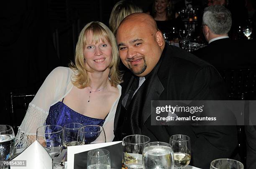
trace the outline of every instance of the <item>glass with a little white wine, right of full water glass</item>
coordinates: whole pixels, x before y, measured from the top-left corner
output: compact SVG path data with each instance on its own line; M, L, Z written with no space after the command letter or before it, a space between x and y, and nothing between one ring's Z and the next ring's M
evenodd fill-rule
M190 137L175 134L170 137L169 143L174 152L174 166L178 169L187 167L191 159Z

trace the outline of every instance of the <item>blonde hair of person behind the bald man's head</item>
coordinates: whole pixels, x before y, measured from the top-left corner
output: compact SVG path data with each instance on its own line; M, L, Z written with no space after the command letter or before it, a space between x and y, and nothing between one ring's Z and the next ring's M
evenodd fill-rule
M131 1L120 0L115 4L109 18L109 27L110 30L112 30L112 32L114 33L114 35L116 34L116 30L120 22L123 20L123 18L136 12L143 11L141 8L133 4L133 2Z

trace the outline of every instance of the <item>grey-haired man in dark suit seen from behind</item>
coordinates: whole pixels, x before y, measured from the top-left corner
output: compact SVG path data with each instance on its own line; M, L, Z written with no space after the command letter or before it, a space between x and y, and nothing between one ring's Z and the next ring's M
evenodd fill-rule
M231 13L223 5L206 7L202 30L209 45L193 54L209 62L217 70L255 67L251 55L253 41L231 40L228 36L231 25Z

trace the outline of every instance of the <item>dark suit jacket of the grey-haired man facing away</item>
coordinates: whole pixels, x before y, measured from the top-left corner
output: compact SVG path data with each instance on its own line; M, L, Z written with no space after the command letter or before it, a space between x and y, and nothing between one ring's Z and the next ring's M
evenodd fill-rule
M217 70L255 67L254 40L215 40L206 47L193 52L194 55L213 65Z

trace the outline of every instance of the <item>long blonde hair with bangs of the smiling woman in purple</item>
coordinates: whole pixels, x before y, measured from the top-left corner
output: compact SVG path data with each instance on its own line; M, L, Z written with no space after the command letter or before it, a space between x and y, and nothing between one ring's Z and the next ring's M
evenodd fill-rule
M92 32L92 40L94 43L98 43L100 40L102 42L108 41L112 47L112 61L108 66L110 68L109 78L112 86L117 87L121 83L121 75L118 70L118 65L120 62L117 43L115 41L115 36L111 30L104 25L102 22L90 22L84 26L79 34L76 52L75 52L75 64L71 62L69 67L74 70L75 75L72 78L72 83L74 86L82 89L88 87L91 84L90 77L88 75L89 70L86 69L84 65L84 47L88 42L86 35L88 32Z

